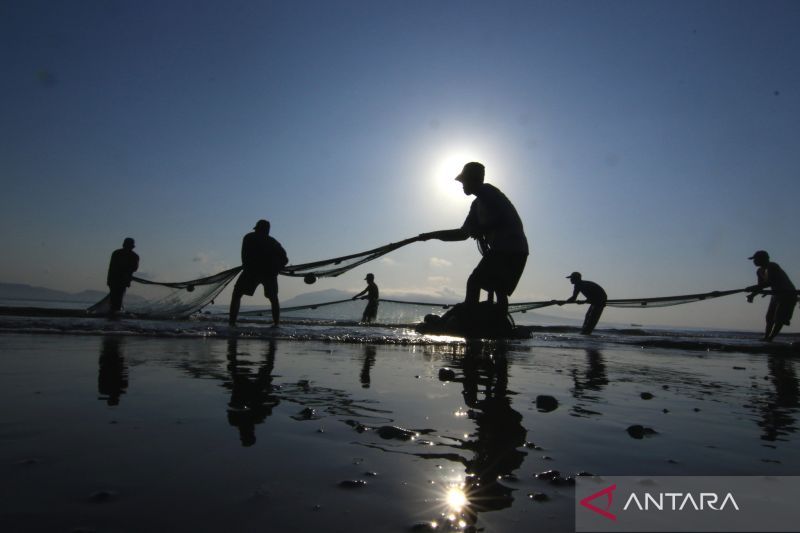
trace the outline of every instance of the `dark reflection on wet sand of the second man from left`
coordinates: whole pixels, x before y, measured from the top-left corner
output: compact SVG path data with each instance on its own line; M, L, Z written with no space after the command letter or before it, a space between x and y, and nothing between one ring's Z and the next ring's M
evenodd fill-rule
M264 361L257 364L255 373L251 363L238 358L238 342L228 340L228 372L230 380L224 386L231 391L228 402L228 422L239 429L242 446L256 443L256 424L260 424L272 414L272 409L280 403L273 394L272 371L275 368L276 344L274 340L265 347Z

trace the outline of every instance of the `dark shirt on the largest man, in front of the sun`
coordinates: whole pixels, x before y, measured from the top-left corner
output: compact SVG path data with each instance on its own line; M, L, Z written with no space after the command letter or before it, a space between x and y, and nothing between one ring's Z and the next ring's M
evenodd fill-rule
M490 250L528 253L522 220L511 201L494 185L484 183L478 188L461 227L470 237L485 240Z

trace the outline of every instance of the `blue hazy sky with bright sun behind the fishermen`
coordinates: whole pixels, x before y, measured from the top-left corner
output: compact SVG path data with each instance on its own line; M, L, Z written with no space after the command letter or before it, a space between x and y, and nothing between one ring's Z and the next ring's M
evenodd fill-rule
M102 289L126 236L143 277L211 274L259 218L292 263L459 227L477 160L532 248L512 302L573 270L611 298L744 287L757 249L797 283L798 28L794 1L0 1L0 281ZM418 243L281 296L462 295L478 260Z

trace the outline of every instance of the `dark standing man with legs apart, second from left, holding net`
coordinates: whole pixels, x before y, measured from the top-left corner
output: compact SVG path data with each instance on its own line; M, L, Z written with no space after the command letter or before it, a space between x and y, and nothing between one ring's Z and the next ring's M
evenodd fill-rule
M272 325L281 320L281 305L278 301L278 273L289 263L286 250L270 237L270 224L259 220L253 231L242 239L242 273L233 286L228 323L236 325L242 295L252 296L256 287L264 286L264 296L272 307Z

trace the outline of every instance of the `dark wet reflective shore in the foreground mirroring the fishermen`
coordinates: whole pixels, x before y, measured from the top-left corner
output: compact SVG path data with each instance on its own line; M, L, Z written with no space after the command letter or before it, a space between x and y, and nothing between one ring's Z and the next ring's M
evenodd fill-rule
M800 474L792 358L373 329L6 331L0 531L573 531L537 473Z

